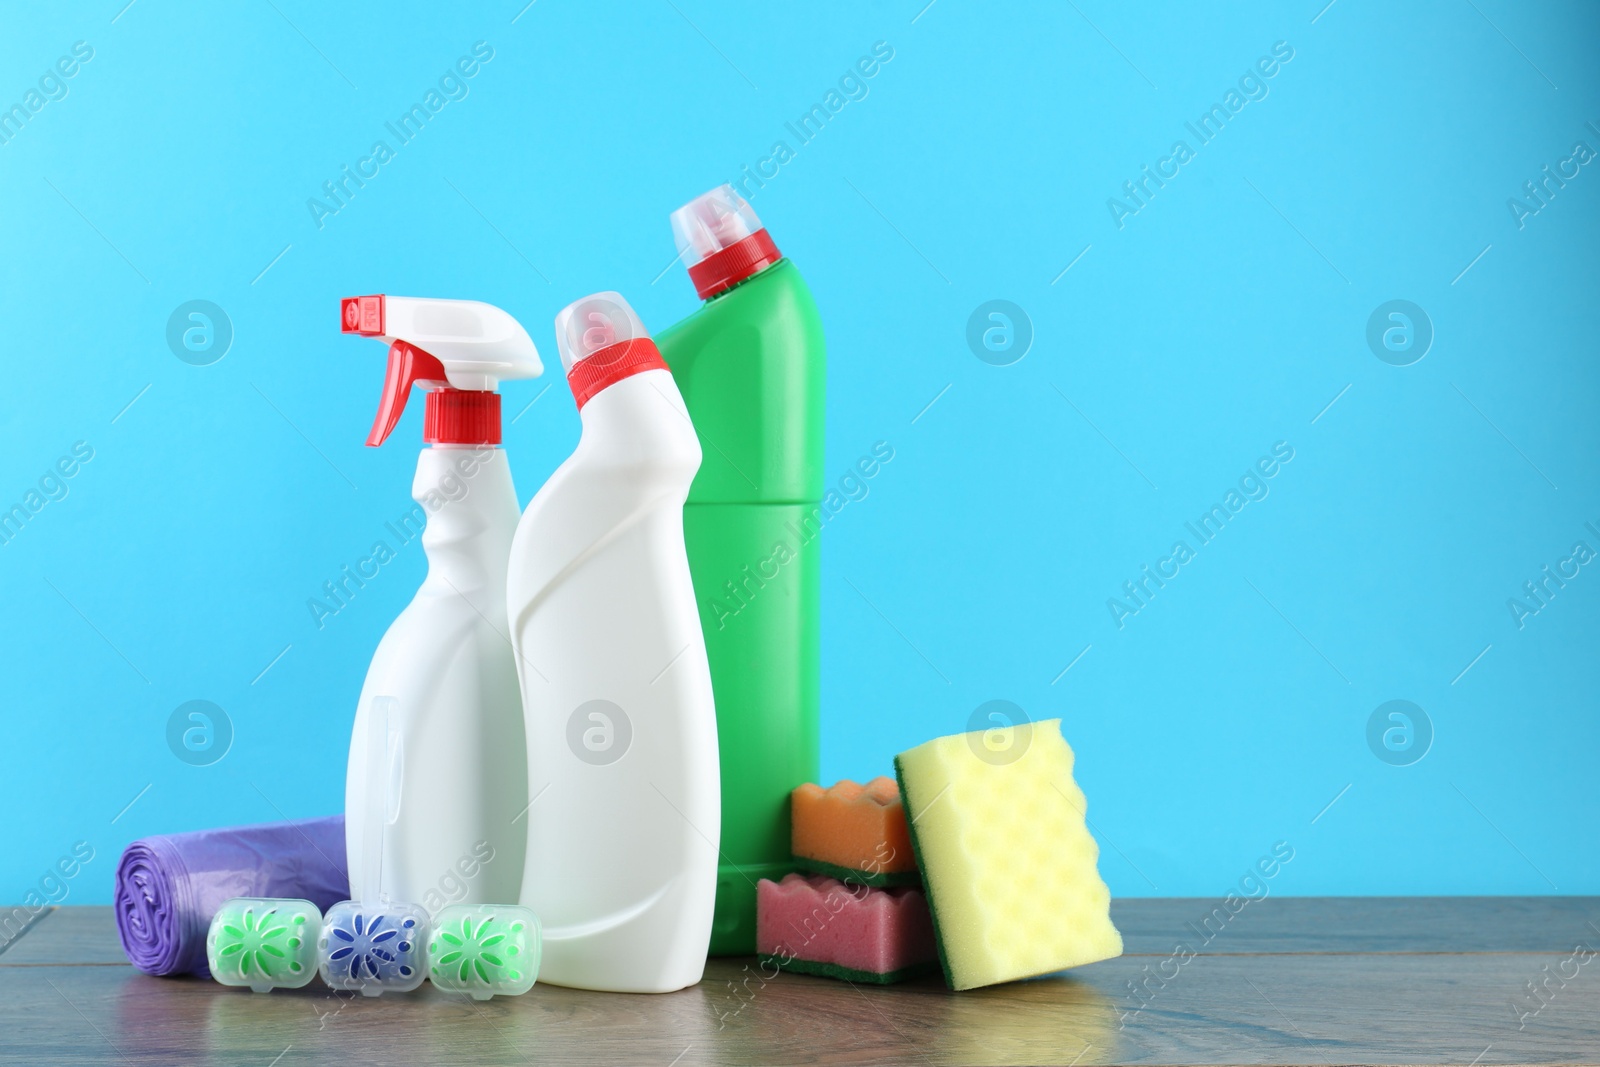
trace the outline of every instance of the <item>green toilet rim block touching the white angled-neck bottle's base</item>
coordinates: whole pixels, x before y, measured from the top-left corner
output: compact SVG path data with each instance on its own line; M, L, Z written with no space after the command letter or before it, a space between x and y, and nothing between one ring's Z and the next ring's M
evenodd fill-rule
M517 904L451 904L434 917L427 977L474 1000L517 997L539 976L539 917Z

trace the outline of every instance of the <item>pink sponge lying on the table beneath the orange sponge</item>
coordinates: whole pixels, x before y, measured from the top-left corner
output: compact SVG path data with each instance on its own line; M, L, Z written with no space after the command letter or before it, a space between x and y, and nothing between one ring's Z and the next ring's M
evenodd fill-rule
M786 971L880 985L938 968L922 889L875 889L827 875L757 883L755 950Z

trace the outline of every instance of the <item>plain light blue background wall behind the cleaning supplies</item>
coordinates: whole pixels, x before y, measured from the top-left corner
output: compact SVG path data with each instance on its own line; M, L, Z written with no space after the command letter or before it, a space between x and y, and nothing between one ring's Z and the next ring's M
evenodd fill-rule
M894 448L826 533L827 779L1010 699L1064 720L1117 894L1224 893L1278 840L1277 893L1600 893L1600 566L1522 630L1506 605L1600 549L1600 165L1525 229L1506 203L1600 149L1594 5L123 2L0 32L6 104L94 48L0 146L0 506L94 448L0 547L0 901L77 840L96 904L134 837L339 808L424 571L413 544L325 629L306 606L410 507L421 432L363 446L384 352L339 296L490 301L547 358L594 290L666 326L694 307L667 213L778 139L754 206L827 325L829 470ZM478 40L470 94L318 229L307 198ZM1117 229L1280 40L1270 94ZM1365 342L1395 298L1435 330L1405 368ZM211 366L165 342L189 299L232 318ZM966 346L989 299L1032 320L1011 366ZM547 384L507 427L523 499L578 421L555 374L504 390L509 421ZM1275 442L1270 496L1118 630L1107 598ZM190 699L237 731L213 766L166 747ZM1411 766L1366 744L1390 699L1434 725Z

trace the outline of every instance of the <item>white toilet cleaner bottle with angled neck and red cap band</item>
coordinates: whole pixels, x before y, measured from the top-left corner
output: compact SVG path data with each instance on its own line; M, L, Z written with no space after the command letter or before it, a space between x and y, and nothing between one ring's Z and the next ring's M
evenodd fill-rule
M664 993L706 969L717 712L683 547L699 438L618 293L555 318L582 435L528 504L507 613L528 726L522 904L539 981Z

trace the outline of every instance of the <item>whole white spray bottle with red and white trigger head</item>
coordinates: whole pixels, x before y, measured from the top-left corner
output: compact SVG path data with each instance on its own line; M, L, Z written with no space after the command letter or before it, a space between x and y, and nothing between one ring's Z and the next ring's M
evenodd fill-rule
M528 331L490 304L358 296L342 302L341 315L344 333L390 342L366 443L389 437L413 386L427 390L429 443L411 483L418 507L398 520L406 537L421 531L427 577L378 645L350 734L350 897L414 901L429 912L512 904L526 849L518 814L528 803L528 766L506 625L518 507L499 448L494 389L544 368ZM392 552L387 542L374 545L376 563ZM387 717L392 737L381 761L366 753L374 713ZM368 781L370 766L386 766L389 781ZM370 825L373 811L387 811L387 833Z

